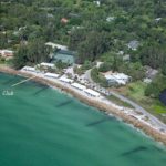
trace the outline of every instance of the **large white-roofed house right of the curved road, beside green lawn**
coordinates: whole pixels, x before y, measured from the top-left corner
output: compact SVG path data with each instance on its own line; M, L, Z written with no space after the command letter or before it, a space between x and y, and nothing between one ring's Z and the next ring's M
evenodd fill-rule
M125 85L131 81L131 76L124 73L107 72L104 76L110 85Z

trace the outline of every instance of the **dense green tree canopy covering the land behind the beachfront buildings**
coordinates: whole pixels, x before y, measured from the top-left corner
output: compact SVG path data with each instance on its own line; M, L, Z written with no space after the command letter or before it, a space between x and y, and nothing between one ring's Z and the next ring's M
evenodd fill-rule
M100 7L93 0L1 0L0 49L15 51L17 69L48 61L48 41L76 51L79 63L103 61L92 75L104 85L100 72L124 72L137 81L148 65L159 74L145 94L158 97L166 89L165 0L101 0ZM138 41L138 48L128 49L131 41Z

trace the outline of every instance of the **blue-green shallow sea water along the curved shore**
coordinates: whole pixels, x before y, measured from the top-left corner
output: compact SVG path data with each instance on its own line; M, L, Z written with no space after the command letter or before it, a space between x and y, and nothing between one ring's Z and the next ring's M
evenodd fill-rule
M166 149L48 86L0 73L0 166L165 166Z

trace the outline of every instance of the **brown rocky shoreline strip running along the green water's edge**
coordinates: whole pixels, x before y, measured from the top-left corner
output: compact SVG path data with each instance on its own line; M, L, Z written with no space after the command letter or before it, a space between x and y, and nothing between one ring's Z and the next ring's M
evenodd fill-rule
M8 66L0 66L0 72L12 74L12 75L20 75L23 77L34 76L34 74L25 73L22 71L17 71L17 70L10 69ZM53 81L44 79L44 77L37 76L32 80L35 82L59 89L59 90L72 95L73 97L77 98L79 101L81 101L90 106L96 107L98 111L102 111L106 114L112 114L115 117L121 118L123 122L125 122L127 124L132 124L134 127L143 131L146 135L151 136L155 141L162 142L163 144L166 145L166 133L162 133L162 132L155 129L153 126L149 126L148 124L143 123L143 122L136 120L135 117L127 115L126 113L122 112L121 110L113 107L111 104L106 104L105 102L97 101L92 97L86 97L85 95L79 93L76 90L70 89L70 86L66 86L62 83L53 82Z

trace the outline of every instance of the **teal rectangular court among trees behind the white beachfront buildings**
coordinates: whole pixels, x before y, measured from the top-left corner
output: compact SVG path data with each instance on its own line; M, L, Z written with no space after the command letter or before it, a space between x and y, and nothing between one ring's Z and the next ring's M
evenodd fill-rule
M54 52L51 56L52 63L55 63L58 61L61 61L70 65L75 63L75 53L72 51L60 50Z

